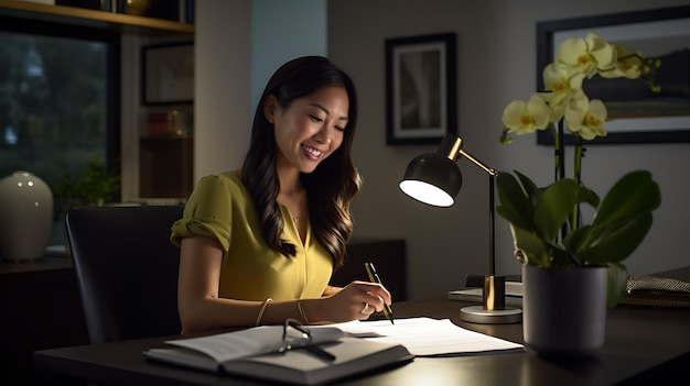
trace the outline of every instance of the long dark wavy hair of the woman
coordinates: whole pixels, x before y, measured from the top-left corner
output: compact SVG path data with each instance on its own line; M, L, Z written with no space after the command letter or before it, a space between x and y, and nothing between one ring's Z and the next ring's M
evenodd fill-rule
M349 98L343 143L314 172L300 174L300 180L306 189L309 218L314 235L333 257L334 267L339 267L353 232L349 206L362 185L362 178L352 159L357 123L357 95L347 74L321 56L300 57L278 68L268 81L254 115L249 151L241 175L242 183L251 194L263 239L270 247L287 257L294 256L295 246L280 238L284 224L276 201L280 190L276 174L278 150L274 129L263 114L263 104L267 97L272 95L280 107L287 109L294 99L330 86L344 87Z

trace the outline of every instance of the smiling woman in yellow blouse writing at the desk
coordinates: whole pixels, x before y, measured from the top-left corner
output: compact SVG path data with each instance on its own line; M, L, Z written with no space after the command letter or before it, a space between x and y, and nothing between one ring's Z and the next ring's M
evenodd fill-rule
M328 59L281 66L254 119L240 169L202 178L172 228L185 332L367 319L379 284L328 286L343 264L360 178L352 161L357 98Z

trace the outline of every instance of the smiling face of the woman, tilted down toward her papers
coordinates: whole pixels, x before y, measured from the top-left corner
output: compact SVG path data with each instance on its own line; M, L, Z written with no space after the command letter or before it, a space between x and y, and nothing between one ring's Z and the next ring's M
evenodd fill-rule
M263 110L276 131L278 165L312 173L343 143L349 98L344 87L324 87L284 109L269 96Z

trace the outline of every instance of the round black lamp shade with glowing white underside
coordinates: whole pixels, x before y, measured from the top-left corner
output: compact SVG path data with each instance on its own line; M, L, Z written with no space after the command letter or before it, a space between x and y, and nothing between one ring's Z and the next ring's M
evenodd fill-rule
M400 190L418 201L450 207L461 186L462 175L455 162L439 153L427 153L410 162Z

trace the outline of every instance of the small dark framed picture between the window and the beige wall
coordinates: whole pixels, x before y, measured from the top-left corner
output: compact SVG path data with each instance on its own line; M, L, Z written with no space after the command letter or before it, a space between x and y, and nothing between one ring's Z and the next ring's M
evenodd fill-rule
M141 48L143 104L191 103L194 100L194 44Z

